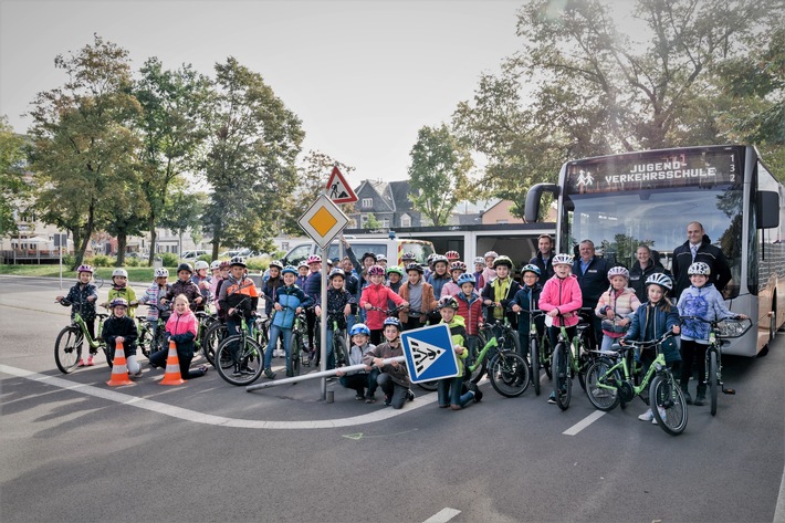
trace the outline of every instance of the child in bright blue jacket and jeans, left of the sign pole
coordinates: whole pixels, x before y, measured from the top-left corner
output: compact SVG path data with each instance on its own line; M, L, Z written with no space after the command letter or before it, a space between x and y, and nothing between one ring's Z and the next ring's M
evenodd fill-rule
M286 353L286 376L293 376L291 342L294 316L314 303L311 297L305 295L302 289L294 284L297 279L296 269L292 265L286 265L281 273L283 274L283 286L279 287L275 294L275 302L273 303L275 312L270 325L270 342L268 343L268 348L264 349L264 376L269 379L275 378L275 373L272 372L271 365L273 362L273 348L275 348L280 337L283 338L283 349Z

